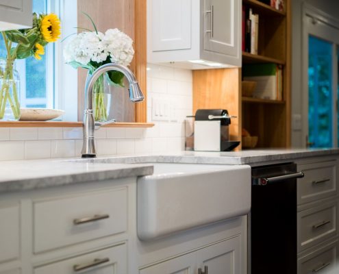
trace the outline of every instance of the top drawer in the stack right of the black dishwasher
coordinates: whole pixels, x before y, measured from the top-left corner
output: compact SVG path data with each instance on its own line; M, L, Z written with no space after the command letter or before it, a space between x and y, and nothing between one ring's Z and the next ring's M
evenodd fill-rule
M337 162L300 164L305 177L298 179L298 204L309 203L337 194Z

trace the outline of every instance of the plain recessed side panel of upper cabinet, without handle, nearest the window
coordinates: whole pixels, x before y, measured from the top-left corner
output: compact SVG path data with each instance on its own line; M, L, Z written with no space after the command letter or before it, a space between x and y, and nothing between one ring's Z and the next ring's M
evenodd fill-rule
M152 51L190 49L191 1L149 1L152 18L149 22L152 27Z

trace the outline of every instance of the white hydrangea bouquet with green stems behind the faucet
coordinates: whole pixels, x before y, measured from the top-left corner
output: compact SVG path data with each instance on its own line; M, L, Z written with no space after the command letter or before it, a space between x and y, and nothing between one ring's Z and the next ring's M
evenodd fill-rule
M88 14L86 14L88 16ZM90 18L90 16L88 16ZM92 19L90 18L90 21ZM64 49L64 59L75 69L88 69L91 75L103 64L114 62L128 66L134 56L133 40L118 29L108 29L105 34L98 32L92 21L94 32L81 32L72 38ZM108 110L105 103L104 83L124 86L124 75L118 71L109 71L101 75L93 88L95 121L107 121Z

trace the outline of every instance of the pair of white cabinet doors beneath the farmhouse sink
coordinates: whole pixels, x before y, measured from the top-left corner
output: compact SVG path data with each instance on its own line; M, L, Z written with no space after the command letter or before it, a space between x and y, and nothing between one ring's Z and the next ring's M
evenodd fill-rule
M216 242L183 256L142 269L140 274L196 274L205 267L213 274L240 274L240 236Z

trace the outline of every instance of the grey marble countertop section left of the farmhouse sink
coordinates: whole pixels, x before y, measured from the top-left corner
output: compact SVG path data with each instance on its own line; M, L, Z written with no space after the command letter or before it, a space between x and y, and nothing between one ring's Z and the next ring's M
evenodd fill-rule
M69 160L0 163L0 193L153 174L151 164L103 164Z

